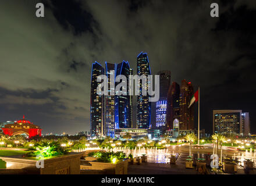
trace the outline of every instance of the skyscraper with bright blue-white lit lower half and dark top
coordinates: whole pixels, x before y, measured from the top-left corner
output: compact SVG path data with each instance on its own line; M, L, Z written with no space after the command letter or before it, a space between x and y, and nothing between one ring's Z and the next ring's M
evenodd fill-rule
M158 72L159 75L159 101L155 103L156 109L156 127L166 126L166 106L167 106L167 95L170 86L170 71L162 70Z

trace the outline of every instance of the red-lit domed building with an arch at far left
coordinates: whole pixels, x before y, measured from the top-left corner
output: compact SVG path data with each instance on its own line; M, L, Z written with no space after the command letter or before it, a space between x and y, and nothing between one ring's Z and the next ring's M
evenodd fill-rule
M42 129L39 126L31 123L29 120L26 120L23 116L23 119L15 121L14 124L5 124L2 128L5 135L21 135L26 134L29 138L34 137L35 135L41 136Z

